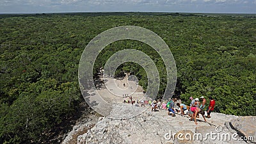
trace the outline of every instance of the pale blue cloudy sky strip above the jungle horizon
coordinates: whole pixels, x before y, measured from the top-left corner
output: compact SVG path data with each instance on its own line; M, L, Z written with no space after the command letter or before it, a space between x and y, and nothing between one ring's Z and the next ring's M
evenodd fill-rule
M0 0L0 13L256 13L256 0Z

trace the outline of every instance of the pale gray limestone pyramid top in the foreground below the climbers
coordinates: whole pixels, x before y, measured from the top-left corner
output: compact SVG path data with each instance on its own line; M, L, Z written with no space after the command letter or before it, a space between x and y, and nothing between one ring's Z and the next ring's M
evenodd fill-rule
M119 110L113 109L111 115L118 115ZM138 113L140 111L143 112ZM239 141L241 138L239 132L244 136L255 138L255 125L253 125L255 122L253 123L253 117L250 116L212 113L212 117L207 118L207 122L204 122L204 118L200 115L200 118L197 118L198 125L195 125L188 116L172 117L166 110L151 111L150 106L146 108L130 106L122 112L138 113L138 115L124 119L101 117L92 129L77 136L76 143L246 143ZM215 133L213 138L209 135L211 133ZM198 134L201 138L198 138ZM232 139L233 135L237 135L237 140Z

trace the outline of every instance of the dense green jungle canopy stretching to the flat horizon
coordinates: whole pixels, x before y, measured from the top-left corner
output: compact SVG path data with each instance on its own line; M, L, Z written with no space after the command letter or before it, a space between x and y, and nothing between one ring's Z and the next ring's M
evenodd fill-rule
M141 26L161 36L177 65L175 97L212 96L215 112L256 115L256 17L189 13L43 13L0 15L0 143L60 143L55 137L84 102L77 70L93 37L116 26ZM121 40L100 52L94 75L122 49L138 49L156 63L166 86L160 56L147 44ZM140 65L124 63L147 90Z

